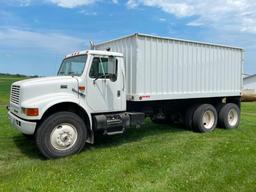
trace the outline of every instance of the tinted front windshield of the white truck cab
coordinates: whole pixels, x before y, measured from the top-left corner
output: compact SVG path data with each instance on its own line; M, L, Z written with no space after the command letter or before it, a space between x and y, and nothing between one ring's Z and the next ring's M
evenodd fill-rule
M82 75L86 60L87 60L87 55L79 55L79 56L64 59L60 66L58 76Z

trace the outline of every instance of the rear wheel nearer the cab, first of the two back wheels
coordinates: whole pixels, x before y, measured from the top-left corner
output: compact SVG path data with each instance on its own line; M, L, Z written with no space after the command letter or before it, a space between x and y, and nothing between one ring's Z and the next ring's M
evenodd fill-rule
M211 132L216 128L218 121L217 111L210 104L197 107L193 115L193 127L197 132Z

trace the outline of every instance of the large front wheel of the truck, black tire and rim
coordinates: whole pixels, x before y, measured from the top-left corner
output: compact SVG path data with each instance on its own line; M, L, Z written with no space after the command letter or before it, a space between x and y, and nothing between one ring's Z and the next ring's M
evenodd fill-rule
M80 152L87 137L84 121L75 113L58 112L46 118L36 132L36 144L46 158Z

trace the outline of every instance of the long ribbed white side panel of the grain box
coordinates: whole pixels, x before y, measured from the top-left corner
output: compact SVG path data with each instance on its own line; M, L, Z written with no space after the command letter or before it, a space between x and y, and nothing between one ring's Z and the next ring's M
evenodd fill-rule
M137 37L135 99L239 96L242 49Z

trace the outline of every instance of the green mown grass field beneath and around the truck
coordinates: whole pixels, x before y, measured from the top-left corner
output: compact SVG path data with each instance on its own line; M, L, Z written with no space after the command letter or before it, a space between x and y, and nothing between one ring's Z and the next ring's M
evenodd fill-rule
M236 130L199 134L147 120L98 136L78 155L44 160L7 120L14 80L0 78L0 191L256 191L256 103L242 104Z

